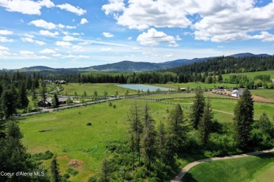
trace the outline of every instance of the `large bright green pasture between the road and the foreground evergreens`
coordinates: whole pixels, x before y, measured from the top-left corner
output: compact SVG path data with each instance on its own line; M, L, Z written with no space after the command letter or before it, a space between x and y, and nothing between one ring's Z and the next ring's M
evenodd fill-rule
M57 153L61 173L65 172L70 160L82 161L84 165L77 168L79 174L71 180L85 181L98 171L101 160L108 155L107 144L126 141L126 117L133 102L135 100L115 101L116 109L102 103L20 118L23 144L30 153L46 150ZM144 108L144 101L137 103L140 109ZM148 104L156 125L160 120L165 123L168 116L166 110L173 106L157 102ZM87 126L86 123L92 125ZM41 130L51 131L39 132Z

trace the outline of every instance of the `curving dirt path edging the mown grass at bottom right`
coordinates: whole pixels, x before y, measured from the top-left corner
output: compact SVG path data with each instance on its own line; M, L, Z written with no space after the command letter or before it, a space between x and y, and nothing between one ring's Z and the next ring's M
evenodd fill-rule
M266 150L266 151L257 151L257 152L252 152L252 153L244 153L241 155L230 155L230 156L226 156L223 158L208 158L208 159L203 159L203 160L197 160L195 162L191 162L190 164L188 164L187 166L185 166L181 172L179 172L179 174L174 178L174 180L171 180L172 182L177 182L180 181L183 176L185 176L185 174L189 171L189 169L191 169L192 167L195 167L196 165L199 165L203 162L209 162L209 161L213 161L213 160L227 160L227 159L235 159L235 158L243 158L243 157L247 157L250 155L259 155L259 154L263 154L263 153L270 153L270 152L274 152L274 148L270 149L270 150Z

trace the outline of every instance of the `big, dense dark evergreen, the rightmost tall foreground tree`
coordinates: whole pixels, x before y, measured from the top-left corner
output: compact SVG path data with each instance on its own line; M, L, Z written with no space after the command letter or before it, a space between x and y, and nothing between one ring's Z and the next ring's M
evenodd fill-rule
M241 99L234 109L234 139L237 147L247 149L254 117L254 103L248 89L242 93Z

